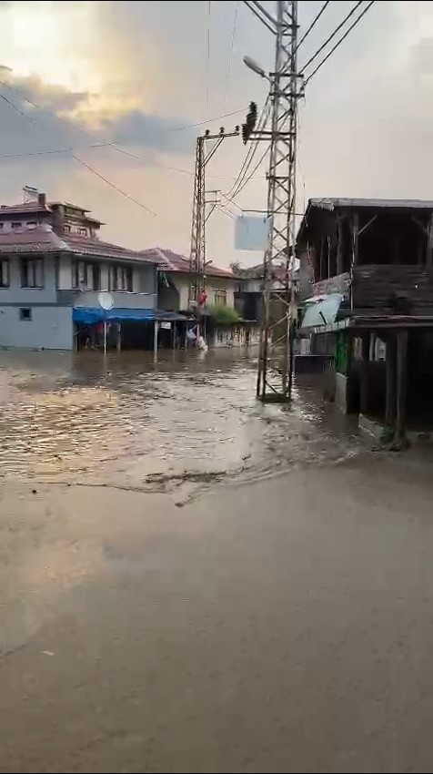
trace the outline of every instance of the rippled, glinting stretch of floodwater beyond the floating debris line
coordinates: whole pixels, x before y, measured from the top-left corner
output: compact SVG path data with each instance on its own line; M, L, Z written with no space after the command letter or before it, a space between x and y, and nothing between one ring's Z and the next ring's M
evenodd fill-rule
M2 474L166 491L357 452L317 388L297 385L291 408L262 406L255 375L253 359L222 350L157 363L146 352L2 352Z

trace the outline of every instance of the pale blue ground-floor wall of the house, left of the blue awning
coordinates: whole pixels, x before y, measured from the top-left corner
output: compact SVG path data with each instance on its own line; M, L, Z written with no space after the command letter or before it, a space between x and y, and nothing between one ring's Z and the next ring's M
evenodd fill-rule
M20 320L21 306L0 304L0 347L72 350L73 325L70 307L28 302L31 320Z

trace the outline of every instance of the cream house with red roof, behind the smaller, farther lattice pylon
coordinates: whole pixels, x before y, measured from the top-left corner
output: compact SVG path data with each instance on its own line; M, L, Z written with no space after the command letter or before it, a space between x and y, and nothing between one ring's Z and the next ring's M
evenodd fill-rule
M190 284L189 260L172 250L152 248L140 255L155 262L159 269L158 304L168 311L186 311ZM206 306L235 306L237 280L229 269L206 264Z

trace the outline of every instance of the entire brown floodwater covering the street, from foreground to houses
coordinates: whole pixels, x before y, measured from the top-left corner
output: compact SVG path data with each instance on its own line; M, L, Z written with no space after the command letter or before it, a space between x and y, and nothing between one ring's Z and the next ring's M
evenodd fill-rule
M1 353L0 771L431 770L431 453L255 377Z

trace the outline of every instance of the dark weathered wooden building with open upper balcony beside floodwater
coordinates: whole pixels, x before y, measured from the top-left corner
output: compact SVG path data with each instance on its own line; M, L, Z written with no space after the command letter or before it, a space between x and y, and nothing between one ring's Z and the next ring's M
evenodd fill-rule
M337 400L388 438L433 425L433 201L310 199L297 255L313 283L302 330L334 355Z

